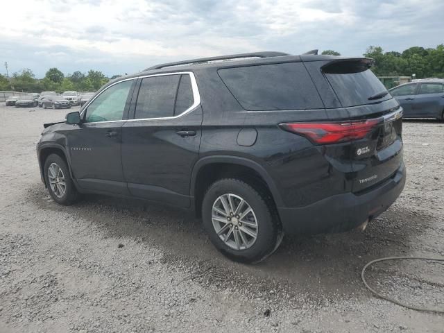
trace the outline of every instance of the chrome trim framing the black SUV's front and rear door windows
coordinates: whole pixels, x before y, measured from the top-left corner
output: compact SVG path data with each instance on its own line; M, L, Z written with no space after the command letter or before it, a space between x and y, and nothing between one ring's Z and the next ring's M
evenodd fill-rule
M94 102L94 100L99 97L103 92L105 92L105 90L107 90L108 88L112 87L113 85L117 85L118 83L121 82L125 82L125 81L129 81L129 80L137 80L138 78L152 78L155 76L167 76L167 75L182 75L182 74L187 74L189 75L189 78L191 79L191 89L193 90L193 98L194 98L194 103L193 105L191 105L189 108L187 108L187 110L185 110L184 112L182 112L181 114L178 114L177 116L173 116L173 117L158 117L158 118L139 118L139 119L121 119L121 120L108 120L108 121L92 121L89 123L117 123L119 121L147 121L147 120L165 120L165 119L177 119L180 117L185 116L185 114L188 114L189 112L191 112L192 110L194 110L195 108L198 107L198 105L200 105L200 94L199 94L199 89L197 86L197 82L196 82L196 77L194 76L194 73L192 71L177 71L177 72L173 72L173 73L162 73L162 74L151 74L151 75L142 75L142 76L135 76L134 78L126 78L124 80L119 80L117 82L112 83L112 85L108 85L108 87L106 87L105 89L103 89L100 94L98 94L97 96L94 96L94 99L92 99L91 101L89 101L87 103L87 105L85 106L85 108L83 108L82 112L80 112L80 118L83 117L83 112L85 112L85 110L87 110L87 108L89 107L89 104L91 104L92 102ZM86 122L85 122L86 123Z

